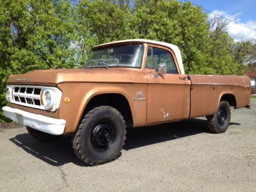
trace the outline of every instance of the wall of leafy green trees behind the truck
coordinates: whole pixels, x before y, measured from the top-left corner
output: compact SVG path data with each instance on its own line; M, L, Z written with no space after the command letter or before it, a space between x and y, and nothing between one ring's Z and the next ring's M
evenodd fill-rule
M244 74L255 53L255 44L234 44L221 18L208 21L190 2L80 0L73 7L69 0L0 0L0 107L9 75L79 68L92 47L130 38L177 45L190 74Z

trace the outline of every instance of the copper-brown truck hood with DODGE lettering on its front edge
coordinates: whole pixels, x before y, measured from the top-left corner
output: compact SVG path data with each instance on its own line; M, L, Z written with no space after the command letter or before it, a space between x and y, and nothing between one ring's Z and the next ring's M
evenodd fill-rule
M140 73L140 75L136 75ZM56 86L63 82L113 82L133 83L132 76L142 76L141 69L91 68L37 70L21 75L11 75L7 84Z

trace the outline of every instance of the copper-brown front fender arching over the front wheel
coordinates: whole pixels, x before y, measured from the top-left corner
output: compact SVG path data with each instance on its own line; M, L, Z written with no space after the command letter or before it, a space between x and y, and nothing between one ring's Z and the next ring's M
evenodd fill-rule
M143 126L146 122L146 100L134 100L137 91L146 97L146 84L130 83L61 83L62 98L58 118L66 120L65 134L73 133L79 126L83 111L90 100L99 94L117 93L129 102L134 126ZM65 98L69 102L65 102Z

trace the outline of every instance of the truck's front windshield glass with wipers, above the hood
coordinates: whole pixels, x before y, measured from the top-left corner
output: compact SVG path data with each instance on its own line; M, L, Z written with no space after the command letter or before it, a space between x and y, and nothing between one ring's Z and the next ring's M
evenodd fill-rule
M143 45L120 45L93 50L84 67L129 67L140 68Z

